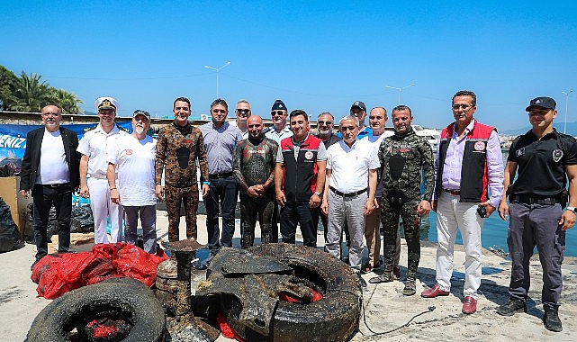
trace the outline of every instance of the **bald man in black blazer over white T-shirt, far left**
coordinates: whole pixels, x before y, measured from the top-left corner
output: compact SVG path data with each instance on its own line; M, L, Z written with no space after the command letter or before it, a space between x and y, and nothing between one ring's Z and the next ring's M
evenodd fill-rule
M20 174L20 193L24 198L32 191L34 205L34 242L36 261L48 254L48 220L54 205L59 223L59 253L70 247L72 191L80 182L77 154L78 136L60 127L62 114L56 105L42 108L44 128L28 133Z

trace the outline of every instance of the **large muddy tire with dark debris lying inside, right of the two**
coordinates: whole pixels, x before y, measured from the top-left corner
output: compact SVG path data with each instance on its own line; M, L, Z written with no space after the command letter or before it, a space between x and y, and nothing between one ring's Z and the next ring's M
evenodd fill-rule
M233 296L222 296L222 311L230 326L247 341L347 341L358 329L362 291L355 273L328 253L291 244L266 244L248 248L259 256L275 257L294 269L298 278L310 281L323 298L299 304L279 302L263 337L239 323L242 307Z

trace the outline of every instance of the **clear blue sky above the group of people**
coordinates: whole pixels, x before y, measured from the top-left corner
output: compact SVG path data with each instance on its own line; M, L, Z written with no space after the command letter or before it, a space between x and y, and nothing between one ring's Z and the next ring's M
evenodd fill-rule
M440 3L440 4L439 4ZM171 114L178 96L194 116L220 94L270 117L289 110L337 120L351 103L391 110L399 92L415 122L452 121L457 90L477 96L475 117L500 130L527 126L538 95L577 91L577 3L572 1L7 1L0 0L0 65L35 72L94 111L111 95L121 116ZM233 115L230 112L229 115ZM568 121L577 121L577 94Z

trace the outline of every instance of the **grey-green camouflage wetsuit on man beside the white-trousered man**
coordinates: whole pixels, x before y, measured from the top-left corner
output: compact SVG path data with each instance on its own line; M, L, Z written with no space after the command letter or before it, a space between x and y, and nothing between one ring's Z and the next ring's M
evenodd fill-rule
M379 179L383 178L381 221L385 273L392 272L401 217L409 250L407 279L414 281L420 259L417 208L421 201L421 170L425 173L423 199L430 202L434 184L433 152L427 139L419 137L411 128L403 134L395 132L392 137L385 138L379 147L379 160Z

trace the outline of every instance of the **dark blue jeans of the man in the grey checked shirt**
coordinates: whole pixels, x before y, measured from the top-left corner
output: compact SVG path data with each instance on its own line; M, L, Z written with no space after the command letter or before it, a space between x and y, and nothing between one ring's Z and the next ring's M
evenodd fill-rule
M208 231L208 247L211 254L216 254L221 245L232 247L234 236L234 210L237 205L239 187L232 176L210 178L211 191L204 198L206 207L206 229ZM219 213L222 217L222 236L219 229ZM219 237L221 238L219 241Z

